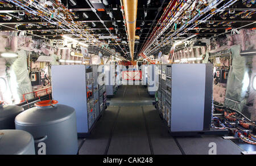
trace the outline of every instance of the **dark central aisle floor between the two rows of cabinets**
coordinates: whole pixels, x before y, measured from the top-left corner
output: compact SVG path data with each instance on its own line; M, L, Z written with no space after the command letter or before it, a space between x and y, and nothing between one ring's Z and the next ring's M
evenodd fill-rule
M112 101L150 101L143 86L121 86ZM81 155L181 154L168 135L158 111L151 106L108 107L89 138L82 143Z

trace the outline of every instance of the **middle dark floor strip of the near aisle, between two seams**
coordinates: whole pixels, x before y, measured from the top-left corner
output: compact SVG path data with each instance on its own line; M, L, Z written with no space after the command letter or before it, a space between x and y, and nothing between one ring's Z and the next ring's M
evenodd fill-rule
M121 107L108 155L150 155L141 107Z

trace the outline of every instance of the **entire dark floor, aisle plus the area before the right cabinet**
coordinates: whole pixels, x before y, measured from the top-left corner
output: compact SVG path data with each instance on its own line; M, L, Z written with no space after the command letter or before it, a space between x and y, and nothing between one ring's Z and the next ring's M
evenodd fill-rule
M143 86L121 86L111 100L152 100ZM80 155L181 155L208 154L209 143L217 154L241 154L240 147L218 136L171 137L151 106L108 107L89 138L82 141Z

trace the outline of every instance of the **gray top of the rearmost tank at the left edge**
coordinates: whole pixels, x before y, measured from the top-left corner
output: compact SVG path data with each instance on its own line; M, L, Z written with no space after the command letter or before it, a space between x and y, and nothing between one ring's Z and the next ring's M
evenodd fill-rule
M18 114L22 112L24 109L17 105L2 105L0 106L0 119L13 116L14 114Z

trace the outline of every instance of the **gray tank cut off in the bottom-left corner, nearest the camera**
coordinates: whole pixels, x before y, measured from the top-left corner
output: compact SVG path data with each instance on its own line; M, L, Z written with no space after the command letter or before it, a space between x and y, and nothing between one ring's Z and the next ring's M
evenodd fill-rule
M35 155L32 135L22 130L0 130L0 155Z

